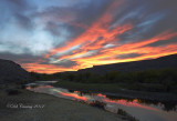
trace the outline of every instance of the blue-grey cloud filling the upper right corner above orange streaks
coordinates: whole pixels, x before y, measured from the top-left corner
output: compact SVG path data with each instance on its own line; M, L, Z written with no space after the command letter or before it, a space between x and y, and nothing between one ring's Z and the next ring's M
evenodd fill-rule
M176 31L176 0L127 0L126 7L116 20L123 20L123 23L131 22L134 28L119 37L122 42L142 41L167 30Z

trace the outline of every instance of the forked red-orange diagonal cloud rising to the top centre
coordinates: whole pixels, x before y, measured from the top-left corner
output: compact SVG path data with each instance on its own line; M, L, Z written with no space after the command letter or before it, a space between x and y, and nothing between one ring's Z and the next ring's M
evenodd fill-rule
M113 19L112 12L121 4L122 1L115 1L108 8L106 9L105 13L96 21L94 22L87 30L79 36L77 38L73 39L72 41L67 41L64 47L55 48L50 51L50 53L45 54L45 58L49 58L50 56L53 56L58 52L65 51L74 46L77 44L84 44L86 42L92 43L97 40L100 37L107 37L113 38L116 33L121 33L123 31L126 31L131 28L131 24L126 24L126 27L117 27L116 29L108 32L108 26ZM117 31L118 30L118 31ZM117 32L116 32L117 31ZM107 39L106 38L106 39ZM84 48L83 46L83 48Z

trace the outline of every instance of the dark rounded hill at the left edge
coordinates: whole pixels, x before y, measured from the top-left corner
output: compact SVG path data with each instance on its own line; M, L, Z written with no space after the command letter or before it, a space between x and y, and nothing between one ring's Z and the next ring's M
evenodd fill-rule
M0 83L28 81L29 79L29 72L18 63L0 59Z

